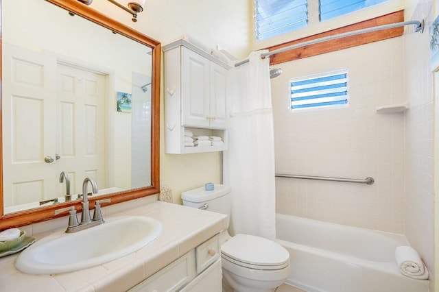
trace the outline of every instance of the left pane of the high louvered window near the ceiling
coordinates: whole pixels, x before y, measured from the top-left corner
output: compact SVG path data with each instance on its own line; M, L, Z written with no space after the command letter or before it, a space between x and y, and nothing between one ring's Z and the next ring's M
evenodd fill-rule
M308 25L307 0L254 0L258 40Z

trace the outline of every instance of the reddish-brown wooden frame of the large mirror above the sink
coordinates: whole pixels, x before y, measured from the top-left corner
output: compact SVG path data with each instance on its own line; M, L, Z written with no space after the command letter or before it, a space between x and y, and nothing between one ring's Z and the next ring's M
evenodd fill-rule
M132 189L130 191L123 191L121 193L109 194L99 196L99 199L111 198L110 204L117 204L121 202L126 202L131 199L137 199L140 197L146 197L148 195L156 195L160 193L160 169L159 169L159 158L160 158L160 77L161 77L161 43L157 40L154 40L141 32L137 32L136 30L124 25L123 23L119 23L119 21L115 21L115 19L111 19L94 10L93 8L84 5L78 0L45 0L54 5L58 5L60 8L63 8L67 12L72 12L78 16L82 16L84 19L88 21L92 21L97 25L101 25L106 27L107 29L112 30L112 32L121 34L122 36L126 36L140 42L143 45L147 45L152 48L152 121L151 121L151 186L147 186L145 188L137 188ZM3 13L1 8L1 0L0 0L0 21L1 14ZM3 38L2 25L0 23L0 53L1 53L1 39ZM1 62L0 55L0 66ZM2 75L0 71L0 230L25 226L31 223L36 223L39 221L45 221L49 219L53 219L55 217L62 217L63 215L54 215L54 211L60 208L66 208L69 206L75 206L75 209L80 211L81 201L76 200L73 202L61 203L41 208L24 210L21 212L14 212L10 214L4 214L3 210L3 136L1 133L2 130L2 114L3 108L1 106L1 93L2 93ZM94 207L94 202L96 197L90 197L89 201L91 202L91 208Z

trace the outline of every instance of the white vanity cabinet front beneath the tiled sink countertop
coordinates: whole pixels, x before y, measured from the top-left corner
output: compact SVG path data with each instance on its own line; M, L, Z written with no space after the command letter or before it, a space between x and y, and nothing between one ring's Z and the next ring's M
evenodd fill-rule
M193 248L129 291L222 291L219 236Z

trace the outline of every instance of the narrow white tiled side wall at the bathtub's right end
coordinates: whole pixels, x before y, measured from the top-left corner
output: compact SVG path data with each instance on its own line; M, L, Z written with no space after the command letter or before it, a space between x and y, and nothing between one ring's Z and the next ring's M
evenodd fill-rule
M434 99L428 32L434 19L432 1L407 1L405 19L425 19L426 24L423 34L410 30L404 36L405 96L410 103L405 127L405 235L422 256L433 280Z

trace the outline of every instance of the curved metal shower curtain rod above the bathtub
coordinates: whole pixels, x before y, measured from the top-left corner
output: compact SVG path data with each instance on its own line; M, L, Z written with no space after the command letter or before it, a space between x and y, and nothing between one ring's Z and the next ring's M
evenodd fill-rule
M375 32L377 30L389 29L389 28L394 28L394 27L401 27L401 26L405 26L405 25L415 25L415 28L414 28L415 32L420 32L421 34L424 32L424 20L422 20L422 21L404 21L401 23L392 23L392 24L388 24L388 25L379 25L376 27L358 29L358 30L354 30L353 32L344 32L342 34L336 34L334 36L325 36L323 38L316 38L314 40L309 40L307 42L300 42L298 44L290 45L290 46L283 47L280 49L275 49L274 51L269 51L267 53L261 53L261 58L265 58L265 57L274 55L276 53L282 53L283 51L289 51L290 49L297 49L300 47L305 47L307 45L317 44L318 42L326 42L327 40L333 40L335 38L344 38L346 36L354 36L355 34L364 34L366 32ZM248 63L248 59L243 60L241 62L237 62L235 64L235 67L244 65L246 63Z

